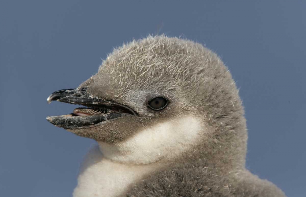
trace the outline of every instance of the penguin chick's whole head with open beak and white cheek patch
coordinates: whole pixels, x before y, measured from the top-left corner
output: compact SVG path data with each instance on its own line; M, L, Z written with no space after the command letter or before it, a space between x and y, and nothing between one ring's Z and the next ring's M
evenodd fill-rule
M244 127L238 90L220 58L164 35L115 49L94 76L53 100L85 108L48 121L95 139L104 155L124 162L170 160Z

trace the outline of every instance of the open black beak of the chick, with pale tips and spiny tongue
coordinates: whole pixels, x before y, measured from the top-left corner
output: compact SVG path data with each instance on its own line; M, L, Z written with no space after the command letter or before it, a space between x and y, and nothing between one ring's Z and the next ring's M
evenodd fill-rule
M47 98L48 103L59 101L82 105L84 107L76 108L73 110L73 113L70 114L48 116L47 120L57 127L79 129L94 127L108 120L122 116L137 115L136 112L128 106L98 98L87 93L87 88L88 87L80 87L53 92Z

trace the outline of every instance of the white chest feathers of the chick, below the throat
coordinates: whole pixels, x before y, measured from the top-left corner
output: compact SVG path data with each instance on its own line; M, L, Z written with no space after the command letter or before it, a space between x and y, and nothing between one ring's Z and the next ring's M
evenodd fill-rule
M118 196L131 183L150 173L152 165L125 165L103 158L99 147L91 148L82 164L73 197Z

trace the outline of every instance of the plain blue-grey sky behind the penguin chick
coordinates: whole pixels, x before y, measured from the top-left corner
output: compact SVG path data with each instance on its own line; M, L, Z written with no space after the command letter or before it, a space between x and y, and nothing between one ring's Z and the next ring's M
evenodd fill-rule
M165 33L230 68L248 123L247 167L306 196L305 1L0 2L0 196L71 196L91 139L46 121L46 99L94 74L114 46Z

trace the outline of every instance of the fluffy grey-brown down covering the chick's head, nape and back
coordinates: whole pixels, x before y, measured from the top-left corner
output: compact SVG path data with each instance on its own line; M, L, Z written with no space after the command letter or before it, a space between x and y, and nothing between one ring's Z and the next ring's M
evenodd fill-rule
M98 142L122 143L186 114L205 125L196 143L175 158L159 158L161 167L131 183L122 196L285 196L245 168L247 129L237 87L220 58L203 45L164 35L133 41L115 49L85 86L139 114L72 131ZM169 98L169 106L148 110L144 103L154 95Z

